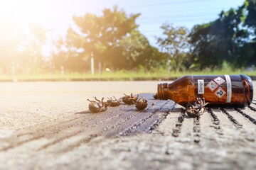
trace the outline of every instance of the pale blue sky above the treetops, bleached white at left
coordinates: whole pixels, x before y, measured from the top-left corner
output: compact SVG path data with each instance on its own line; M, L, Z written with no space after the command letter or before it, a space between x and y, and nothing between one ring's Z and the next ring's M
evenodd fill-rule
M0 21L13 21L20 26L39 23L48 30L48 39L65 35L69 26L75 26L72 17L85 13L101 15L104 8L117 5L137 18L139 30L153 46L162 35L160 26L172 23L191 29L196 24L218 18L220 11L238 8L244 0L0 0Z

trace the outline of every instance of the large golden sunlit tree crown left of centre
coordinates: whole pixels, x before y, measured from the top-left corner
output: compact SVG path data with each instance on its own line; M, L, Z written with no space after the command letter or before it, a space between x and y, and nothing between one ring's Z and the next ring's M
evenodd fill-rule
M79 31L70 28L66 37L68 45L80 50L82 56L93 53L95 62L107 64L113 61L114 52L119 42L138 28L135 23L139 14L127 14L115 6L105 9L102 16L86 13L85 16L74 16L73 20ZM122 55L121 51L118 51ZM116 60L115 60L116 61Z

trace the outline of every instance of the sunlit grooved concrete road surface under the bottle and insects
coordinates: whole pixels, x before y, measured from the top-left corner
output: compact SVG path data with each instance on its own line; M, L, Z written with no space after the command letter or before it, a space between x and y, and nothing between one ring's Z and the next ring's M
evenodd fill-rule
M0 169L256 169L256 101L196 120L154 100L158 83L1 83ZM87 98L130 93L148 99L146 111L88 111Z

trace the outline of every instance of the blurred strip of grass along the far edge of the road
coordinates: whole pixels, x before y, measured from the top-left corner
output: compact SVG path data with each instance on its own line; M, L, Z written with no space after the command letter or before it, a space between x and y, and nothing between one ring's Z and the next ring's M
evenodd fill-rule
M102 72L102 74L90 74L90 72L77 73L77 72L66 72L60 74L55 73L34 73L34 74L15 74L15 75L1 75L0 81L120 81L120 80L169 80L176 79L185 75L221 75L221 74L246 74L250 77L256 76L256 71L232 71L232 70L215 70L206 72Z

